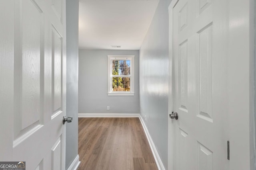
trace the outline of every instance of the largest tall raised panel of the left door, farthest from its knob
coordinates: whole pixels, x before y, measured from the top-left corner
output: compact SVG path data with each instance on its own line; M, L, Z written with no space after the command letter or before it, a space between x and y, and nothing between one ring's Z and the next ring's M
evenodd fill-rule
M44 92L43 12L34 0L17 1L15 9L14 147L42 127Z

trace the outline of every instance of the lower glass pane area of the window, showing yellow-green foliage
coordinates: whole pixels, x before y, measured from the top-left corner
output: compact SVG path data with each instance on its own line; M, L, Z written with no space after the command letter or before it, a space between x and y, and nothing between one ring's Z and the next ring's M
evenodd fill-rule
M112 90L113 92L116 92L116 91L130 92L130 78L129 77L113 77Z

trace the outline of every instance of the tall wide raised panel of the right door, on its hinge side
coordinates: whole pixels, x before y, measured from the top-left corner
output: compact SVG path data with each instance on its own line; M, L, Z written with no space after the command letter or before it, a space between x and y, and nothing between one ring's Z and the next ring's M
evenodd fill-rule
M197 116L212 118L212 23L198 31L198 111Z

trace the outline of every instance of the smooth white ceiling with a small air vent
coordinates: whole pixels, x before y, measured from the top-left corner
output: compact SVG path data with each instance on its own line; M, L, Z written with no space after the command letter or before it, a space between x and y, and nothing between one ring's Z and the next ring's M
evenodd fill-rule
M158 2L80 0L79 49L140 49Z

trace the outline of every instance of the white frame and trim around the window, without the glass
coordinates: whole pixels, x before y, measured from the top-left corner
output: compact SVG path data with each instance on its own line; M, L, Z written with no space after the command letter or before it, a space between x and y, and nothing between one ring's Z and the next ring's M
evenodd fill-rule
M131 60L130 67L130 92L112 91L112 62L113 59ZM134 55L108 55L108 96L134 96Z

